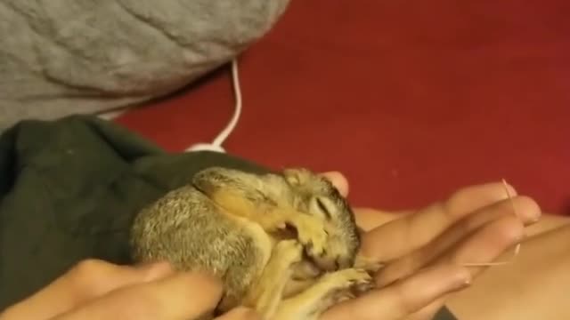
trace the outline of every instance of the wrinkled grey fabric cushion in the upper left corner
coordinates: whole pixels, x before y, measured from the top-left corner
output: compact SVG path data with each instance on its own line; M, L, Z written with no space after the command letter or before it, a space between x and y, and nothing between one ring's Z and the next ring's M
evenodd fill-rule
M173 92L264 36L289 0L0 0L0 131Z

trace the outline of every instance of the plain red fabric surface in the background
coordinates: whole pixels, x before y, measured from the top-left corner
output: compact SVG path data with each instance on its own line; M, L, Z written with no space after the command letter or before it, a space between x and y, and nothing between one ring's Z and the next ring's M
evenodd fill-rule
M408 208L507 179L569 213L570 3L293 0L240 60L243 117L225 147L337 169L354 204ZM120 124L170 150L232 114L218 73Z

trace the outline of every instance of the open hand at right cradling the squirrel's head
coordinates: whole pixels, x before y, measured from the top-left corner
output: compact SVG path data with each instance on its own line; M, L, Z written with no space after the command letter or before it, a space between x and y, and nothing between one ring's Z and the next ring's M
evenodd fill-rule
M346 195L342 175L325 176ZM525 226L539 219L538 205L508 188L512 199L502 183L490 183L400 215L356 209L367 230L362 255L385 264L375 275L379 289L330 308L322 320L432 319L452 292L468 287L486 268L463 265L506 255L523 238Z

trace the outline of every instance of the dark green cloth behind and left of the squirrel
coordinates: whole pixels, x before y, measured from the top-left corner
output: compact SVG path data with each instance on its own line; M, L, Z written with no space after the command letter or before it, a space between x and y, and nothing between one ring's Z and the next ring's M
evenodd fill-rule
M90 116L25 121L4 132L0 310L79 260L129 263L127 236L134 214L213 165L268 170L213 152L167 154L133 132Z

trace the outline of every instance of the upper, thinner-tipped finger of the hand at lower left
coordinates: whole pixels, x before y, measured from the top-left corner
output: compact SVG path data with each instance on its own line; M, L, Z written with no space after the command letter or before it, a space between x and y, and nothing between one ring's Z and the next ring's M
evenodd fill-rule
M84 260L52 284L10 308L14 319L46 319L119 287L149 282L171 272L168 264L138 268Z

